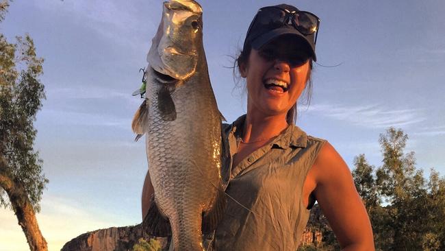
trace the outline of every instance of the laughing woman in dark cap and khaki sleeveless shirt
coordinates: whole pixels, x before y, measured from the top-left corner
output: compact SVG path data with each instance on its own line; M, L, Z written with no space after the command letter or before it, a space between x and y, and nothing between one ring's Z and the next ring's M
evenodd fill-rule
M247 113L225 127L230 199L216 250L296 250L315 200L343 250L374 250L346 163L327 141L294 125L316 60L318 25L314 14L281 4L260 9L249 27L237 60ZM143 197L153 193L148 182Z

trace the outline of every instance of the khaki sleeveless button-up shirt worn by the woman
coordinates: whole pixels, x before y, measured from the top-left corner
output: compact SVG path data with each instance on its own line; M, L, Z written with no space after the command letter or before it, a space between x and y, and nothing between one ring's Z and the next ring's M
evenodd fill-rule
M245 118L223 125L230 156L237 152ZM303 204L303 183L325 142L289 125L236 167L231 161L223 167L227 208L213 249L296 250L310 212Z

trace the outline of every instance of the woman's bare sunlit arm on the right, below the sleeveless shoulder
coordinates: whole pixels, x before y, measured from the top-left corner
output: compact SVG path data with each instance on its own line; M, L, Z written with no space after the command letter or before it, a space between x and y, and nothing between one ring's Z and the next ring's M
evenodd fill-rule
M368 213L351 171L331 144L323 145L311 171L316 181L314 195L342 250L374 250Z

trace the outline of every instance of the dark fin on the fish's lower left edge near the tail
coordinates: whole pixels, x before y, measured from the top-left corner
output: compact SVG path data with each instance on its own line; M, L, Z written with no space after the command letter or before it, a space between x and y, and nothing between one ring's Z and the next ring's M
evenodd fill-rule
M172 235L170 222L168 218L160 212L159 208L157 208L154 194L151 196L149 211L142 221L142 231L156 237L168 237Z

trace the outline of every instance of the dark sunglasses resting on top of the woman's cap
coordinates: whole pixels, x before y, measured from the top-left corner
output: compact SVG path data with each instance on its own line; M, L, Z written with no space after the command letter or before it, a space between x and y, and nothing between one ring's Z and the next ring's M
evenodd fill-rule
M315 34L314 45L317 42L320 19L311 12L290 11L277 6L268 6L259 9L254 21L248 29L250 32L261 32L264 29L277 29L292 25L298 32L308 36ZM259 34L258 34L259 36Z

